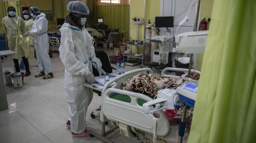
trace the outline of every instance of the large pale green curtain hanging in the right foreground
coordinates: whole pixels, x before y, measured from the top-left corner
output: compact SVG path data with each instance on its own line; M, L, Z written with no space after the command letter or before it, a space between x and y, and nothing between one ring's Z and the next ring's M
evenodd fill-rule
M256 0L215 0L188 143L255 143Z

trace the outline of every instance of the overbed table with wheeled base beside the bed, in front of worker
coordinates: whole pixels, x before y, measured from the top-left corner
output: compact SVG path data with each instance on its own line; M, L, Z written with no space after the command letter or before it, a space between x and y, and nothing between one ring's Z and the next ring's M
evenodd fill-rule
M102 89L99 89L98 87L93 87L93 85L91 85L91 84L89 84L89 83L87 83L87 82L85 82L83 85L84 85L84 87L89 87L89 88L91 88L91 89L93 89L93 90L97 90L97 91L99 91L99 92L102 92ZM93 135L93 136L95 136L95 137L97 137L97 138L99 138L100 140L105 141L106 143L113 143L113 141L110 140L110 139L108 139L106 136L107 136L109 133L111 133L111 132L113 132L114 130L116 130L117 128L118 128L118 126L115 126L115 127L113 127L113 129L109 129L107 132L105 132L105 123L102 122L102 135L99 135L98 133L93 132L93 131L91 131L90 134Z

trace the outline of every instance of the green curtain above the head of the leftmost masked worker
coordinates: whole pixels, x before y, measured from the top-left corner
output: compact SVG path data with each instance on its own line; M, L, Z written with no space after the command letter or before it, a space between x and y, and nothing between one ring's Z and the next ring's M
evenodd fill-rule
M20 14L20 1L19 0L3 0L3 12L8 15L7 9L9 6L13 6L16 9L16 15L21 16Z

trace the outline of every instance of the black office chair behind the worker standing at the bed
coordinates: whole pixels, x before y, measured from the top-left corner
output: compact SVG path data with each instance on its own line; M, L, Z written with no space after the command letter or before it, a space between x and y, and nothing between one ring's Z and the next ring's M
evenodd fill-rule
M105 53L102 50L96 50L95 51L96 57L100 59L100 61L102 62L102 69L107 72L107 73L112 73L112 70L116 70L116 68L111 67L111 64L109 62L108 59L108 54ZM99 76L99 72L96 68L93 67L93 75L94 76ZM94 93L97 93L99 96L101 96L101 92L97 91L97 90L93 90ZM91 112L90 116L92 118L95 118L95 115L93 114L96 111L100 111L100 107L99 109L95 109L93 110L93 112Z

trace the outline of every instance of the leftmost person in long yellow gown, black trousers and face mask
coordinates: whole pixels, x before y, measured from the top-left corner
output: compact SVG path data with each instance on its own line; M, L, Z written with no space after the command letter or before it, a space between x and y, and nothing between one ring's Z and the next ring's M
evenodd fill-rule
M31 73L29 71L29 61L25 57L27 50L23 38L26 28L24 20L21 17L16 16L16 10L12 6L8 7L7 12L8 16L3 17L2 25L3 30L7 35L9 50L18 52L17 54L12 55L15 72L20 72L18 59L22 58L26 69L25 76L29 76Z

